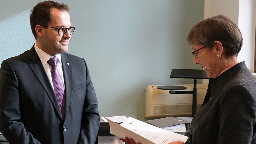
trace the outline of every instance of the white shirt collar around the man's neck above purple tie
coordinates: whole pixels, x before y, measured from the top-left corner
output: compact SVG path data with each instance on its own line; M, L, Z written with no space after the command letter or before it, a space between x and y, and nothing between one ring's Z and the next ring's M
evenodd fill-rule
M36 53L37 53L39 59L41 60L41 62L42 62L42 64L43 64L43 66L45 66L45 64L47 63L47 61L48 61L51 57L54 57L54 56L51 56L51 55L49 55L48 53L42 51L40 48L38 48L37 45L36 45L36 42L35 42L35 50L36 50ZM56 54L55 57L58 58L58 60L59 60L58 62L60 62L60 65L62 66L60 54ZM58 63L58 62L57 62L57 63Z

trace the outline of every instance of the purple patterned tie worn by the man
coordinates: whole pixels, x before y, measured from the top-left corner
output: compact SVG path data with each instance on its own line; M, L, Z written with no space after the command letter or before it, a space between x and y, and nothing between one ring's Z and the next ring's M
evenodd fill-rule
M59 103L59 108L60 108L62 118L64 119L66 94L64 91L64 86L62 83L60 73L56 67L57 61L58 61L57 57L52 57L48 60L47 63L49 63L49 65L51 66L51 79L54 87L54 92L55 92L57 101Z

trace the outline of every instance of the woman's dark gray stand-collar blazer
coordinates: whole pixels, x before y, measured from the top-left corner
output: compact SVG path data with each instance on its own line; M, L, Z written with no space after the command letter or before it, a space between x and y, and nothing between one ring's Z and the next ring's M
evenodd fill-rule
M191 133L192 144L256 143L256 82L245 62L209 80Z

